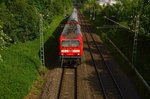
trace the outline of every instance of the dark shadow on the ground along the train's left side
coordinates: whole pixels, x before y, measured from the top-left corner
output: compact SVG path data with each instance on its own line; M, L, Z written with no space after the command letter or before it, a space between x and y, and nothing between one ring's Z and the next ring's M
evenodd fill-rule
M65 22L68 18L64 19L56 30L52 33L49 39L45 42L45 66L49 69L59 67L59 37L63 31Z

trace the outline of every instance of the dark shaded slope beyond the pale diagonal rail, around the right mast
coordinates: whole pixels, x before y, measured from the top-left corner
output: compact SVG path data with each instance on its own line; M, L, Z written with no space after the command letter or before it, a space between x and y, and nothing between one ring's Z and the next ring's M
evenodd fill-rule
M108 36L131 61L134 33L130 33L125 30L118 30L116 33ZM138 71L144 77L144 79L150 84L150 77L147 76L149 75L150 70L149 69L150 47L147 46L150 45L149 41L150 41L149 39L146 40L146 38L142 38L141 36L139 36L135 67L138 69Z

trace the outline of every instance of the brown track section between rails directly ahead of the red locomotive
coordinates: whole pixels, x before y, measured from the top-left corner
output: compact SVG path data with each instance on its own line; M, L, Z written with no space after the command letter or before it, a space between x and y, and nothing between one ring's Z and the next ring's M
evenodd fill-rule
M77 99L77 68L62 68L58 99Z

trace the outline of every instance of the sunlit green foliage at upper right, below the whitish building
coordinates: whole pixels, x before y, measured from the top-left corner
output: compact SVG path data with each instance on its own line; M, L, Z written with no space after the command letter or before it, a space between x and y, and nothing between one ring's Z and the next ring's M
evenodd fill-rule
M87 12L94 12L96 15L107 16L118 23L123 23L131 30L135 30L137 15L140 15L139 35L150 36L150 1L149 0L116 0L113 6L99 6L95 0L87 1L85 4ZM100 21L100 20L99 20Z

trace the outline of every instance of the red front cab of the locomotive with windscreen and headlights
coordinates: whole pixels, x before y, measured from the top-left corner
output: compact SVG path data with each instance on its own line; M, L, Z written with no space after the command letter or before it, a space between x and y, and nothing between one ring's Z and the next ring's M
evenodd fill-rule
M60 59L65 62L76 61L81 63L83 42L82 38L60 40Z

